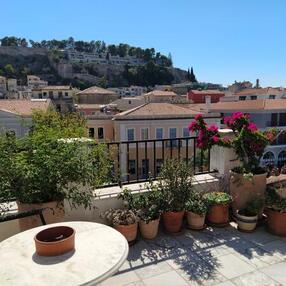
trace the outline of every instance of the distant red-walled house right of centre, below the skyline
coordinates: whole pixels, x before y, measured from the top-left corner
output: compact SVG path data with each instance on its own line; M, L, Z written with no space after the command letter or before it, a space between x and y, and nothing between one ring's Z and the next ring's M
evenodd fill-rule
M205 103L207 99L211 103L218 102L225 93L219 90L190 90L187 94L188 100L192 103Z

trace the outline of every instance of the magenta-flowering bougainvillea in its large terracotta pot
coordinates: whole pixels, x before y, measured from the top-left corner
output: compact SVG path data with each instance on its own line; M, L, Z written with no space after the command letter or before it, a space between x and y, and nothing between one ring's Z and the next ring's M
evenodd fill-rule
M232 209L246 207L247 202L255 197L264 198L266 189L266 171L260 167L264 149L274 139L276 131L261 132L250 121L248 114L235 112L224 117L227 128L233 131L230 138L222 137L215 125L208 126L202 115L198 115L189 129L198 133L197 147L208 150L214 145L232 148L240 165L233 168L230 174L230 194L233 198Z

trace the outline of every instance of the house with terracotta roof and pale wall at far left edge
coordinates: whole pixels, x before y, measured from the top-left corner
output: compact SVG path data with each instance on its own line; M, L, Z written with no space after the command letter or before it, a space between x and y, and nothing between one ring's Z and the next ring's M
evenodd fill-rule
M29 131L32 112L47 111L53 105L49 99L40 100L0 100L0 129L23 137Z

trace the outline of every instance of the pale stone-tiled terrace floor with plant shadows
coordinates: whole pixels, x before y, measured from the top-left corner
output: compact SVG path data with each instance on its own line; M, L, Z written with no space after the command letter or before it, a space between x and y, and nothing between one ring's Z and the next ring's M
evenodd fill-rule
M119 273L101 286L286 285L286 239L263 227L242 233L227 228L163 232L130 247Z

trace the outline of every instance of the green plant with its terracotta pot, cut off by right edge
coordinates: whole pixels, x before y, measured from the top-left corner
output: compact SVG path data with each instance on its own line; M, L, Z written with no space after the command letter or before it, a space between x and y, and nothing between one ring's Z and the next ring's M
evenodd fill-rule
M278 236L286 236L286 188L270 187L266 191L267 229Z

